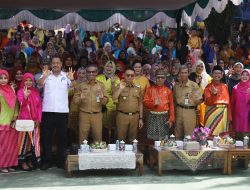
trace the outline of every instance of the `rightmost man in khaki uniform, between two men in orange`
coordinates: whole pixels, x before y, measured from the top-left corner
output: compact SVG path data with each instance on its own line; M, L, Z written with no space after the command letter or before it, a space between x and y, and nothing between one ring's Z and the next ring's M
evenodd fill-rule
M180 68L180 83L174 87L176 106L176 139L182 140L185 135L192 135L196 126L196 106L202 102L200 87L188 79L188 68Z

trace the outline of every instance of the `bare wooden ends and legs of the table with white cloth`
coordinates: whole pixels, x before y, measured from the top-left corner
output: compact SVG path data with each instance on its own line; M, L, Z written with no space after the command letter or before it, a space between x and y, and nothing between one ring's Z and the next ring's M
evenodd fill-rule
M138 152L136 153L136 168L138 168L138 175L142 176L144 172L143 168L143 154ZM72 177L72 171L79 170L79 161L78 155L68 155L66 160L66 170L68 177Z

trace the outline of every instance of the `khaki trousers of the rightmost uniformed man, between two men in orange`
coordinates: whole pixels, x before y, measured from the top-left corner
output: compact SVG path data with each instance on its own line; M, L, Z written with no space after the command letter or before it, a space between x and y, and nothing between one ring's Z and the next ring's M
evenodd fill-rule
M192 135L196 126L196 110L176 107L175 136L183 140L185 135Z

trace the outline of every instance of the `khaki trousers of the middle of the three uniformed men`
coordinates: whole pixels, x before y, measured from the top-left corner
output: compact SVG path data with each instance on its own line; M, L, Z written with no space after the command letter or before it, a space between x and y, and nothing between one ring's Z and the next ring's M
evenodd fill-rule
M132 143L132 141L137 138L139 113L127 115L117 111L116 126L118 140L126 141L128 137L129 143Z

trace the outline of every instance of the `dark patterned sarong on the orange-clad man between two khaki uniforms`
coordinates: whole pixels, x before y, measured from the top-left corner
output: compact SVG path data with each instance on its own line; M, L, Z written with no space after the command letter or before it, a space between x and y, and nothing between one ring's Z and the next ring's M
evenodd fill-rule
M169 135L168 112L148 113L147 138L151 140L162 140Z

